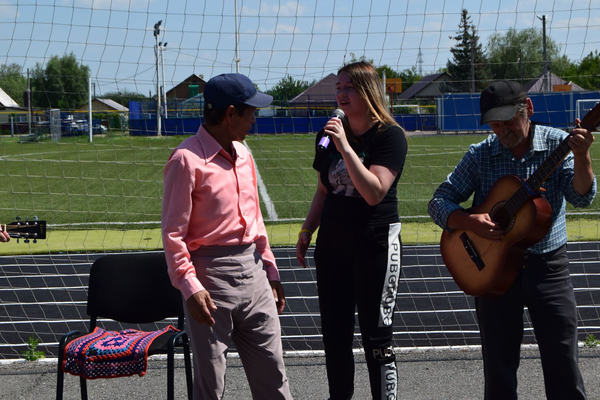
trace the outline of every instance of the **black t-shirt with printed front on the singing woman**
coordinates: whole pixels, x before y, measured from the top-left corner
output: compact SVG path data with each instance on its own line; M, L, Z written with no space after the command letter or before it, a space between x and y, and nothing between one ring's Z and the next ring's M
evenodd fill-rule
M322 222L377 226L399 221L396 187L404 168L406 137L401 128L395 125L386 125L380 131L377 130L378 127L379 124L375 124L359 136L359 143L350 142L350 146L367 169L377 165L398 171L388 193L375 206L370 206L352 184L344 159L335 148L333 140L324 152L316 151L316 146L323 137L323 129L317 134L313 168L321 173L321 182L327 188L321 214Z

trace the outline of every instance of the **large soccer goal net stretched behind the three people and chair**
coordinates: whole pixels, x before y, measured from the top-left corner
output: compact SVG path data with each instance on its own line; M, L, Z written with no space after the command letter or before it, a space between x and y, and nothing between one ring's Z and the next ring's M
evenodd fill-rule
M532 119L556 128L600 99L600 6L590 0L3 0L0 27L0 224L36 216L46 227L46 239L0 243L0 359L22 358L30 338L56 356L63 333L86 329L98 257L161 251L164 165L202 124L206 82L237 71L274 97L244 144L288 297L284 350L322 351L313 247L302 269L295 244L337 72L361 60L408 134L394 346L479 345L473 298L446 270L427 214L434 190L491 133L479 95L496 79L519 82ZM567 206L580 341L600 336L598 215L598 199ZM524 327L534 343L527 312ZM360 348L358 327L355 339Z

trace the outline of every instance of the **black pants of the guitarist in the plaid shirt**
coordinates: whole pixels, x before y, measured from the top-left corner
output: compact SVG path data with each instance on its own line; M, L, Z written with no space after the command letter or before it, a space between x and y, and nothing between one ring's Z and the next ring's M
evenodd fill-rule
M485 400L517 399L517 368L527 306L548 400L586 399L577 365L577 313L566 246L526 254L524 268L500 297L475 297L484 358Z

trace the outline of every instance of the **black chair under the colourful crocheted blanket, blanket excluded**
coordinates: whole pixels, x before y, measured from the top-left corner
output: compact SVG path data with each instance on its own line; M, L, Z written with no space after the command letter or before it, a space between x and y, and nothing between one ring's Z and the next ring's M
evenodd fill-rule
M192 398L190 344L184 327L181 292L171 285L163 252L110 254L98 258L89 272L89 331L73 330L62 336L58 349L56 399L62 400L65 347L72 340L94 331L98 317L127 324L154 323L177 317L179 332L158 336L148 348L148 356L167 354L167 399L173 400L175 347L182 347L188 399ZM88 398L86 379L79 377L81 397Z

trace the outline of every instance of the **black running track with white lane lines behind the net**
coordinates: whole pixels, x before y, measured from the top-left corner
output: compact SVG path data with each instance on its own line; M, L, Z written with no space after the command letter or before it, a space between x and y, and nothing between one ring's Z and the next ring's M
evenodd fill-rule
M285 351L323 349L312 252L309 249L308 267L304 269L296 261L295 248L274 248L287 297L280 317ZM89 268L101 255L0 257L0 360L21 357L30 335L40 338L39 350L55 357L63 333L86 329ZM598 337L600 242L569 243L568 255L578 305L579 339L583 341L589 333ZM480 344L473 298L460 291L452 280L443 266L439 246L404 246L396 305L396 347ZM104 327L120 328L116 323L106 323ZM524 328L524 343L535 342L527 312ZM356 348L360 347L360 339L357 327Z

